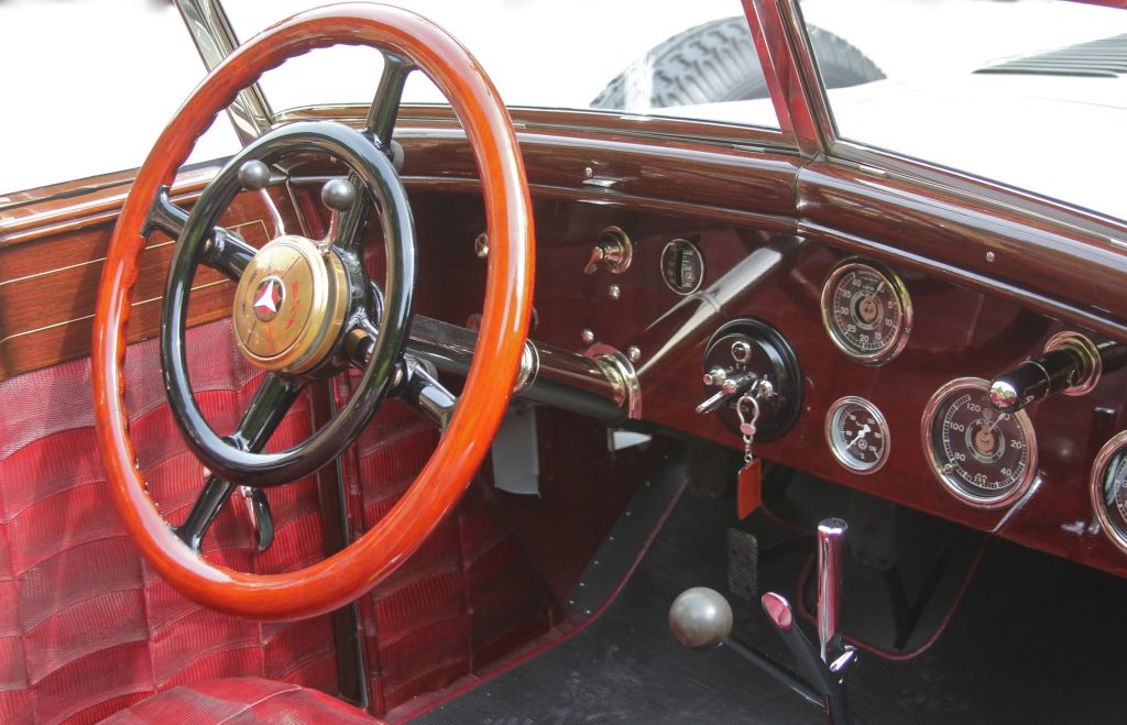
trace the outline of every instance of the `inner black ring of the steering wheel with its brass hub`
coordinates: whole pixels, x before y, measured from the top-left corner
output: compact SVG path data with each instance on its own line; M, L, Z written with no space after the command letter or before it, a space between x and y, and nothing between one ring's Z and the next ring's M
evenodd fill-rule
M265 186L272 164L300 153L327 154L350 170L348 180L334 179L322 189L326 204L337 212L330 235L336 249L326 240L283 234L257 250L216 227L240 191ZM298 481L328 464L355 440L391 387L410 324L415 232L391 160L372 137L347 126L296 122L251 142L228 161L186 218L167 203L167 195L158 199L152 216L153 226L181 229L161 308L161 366L174 418L193 451L220 478L250 487ZM379 288L361 258L367 226L376 220L387 258ZM198 265L239 280L232 314L236 342L245 358L269 372L243 424L228 437L207 424L187 374L187 302ZM261 451L303 381L334 368L337 341L347 339L350 325L362 317L375 320L369 324L374 343L353 396L308 439L286 450Z

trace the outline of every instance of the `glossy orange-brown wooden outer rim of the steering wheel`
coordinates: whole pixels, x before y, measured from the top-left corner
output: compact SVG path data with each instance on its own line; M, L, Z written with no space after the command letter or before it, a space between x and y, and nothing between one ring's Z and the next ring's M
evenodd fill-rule
M337 44L373 45L409 59L446 95L473 149L490 238L482 321L460 403L418 477L347 548L293 572L248 574L214 565L185 545L149 498L135 465L123 361L142 229L196 140L242 88L294 55ZM401 564L461 496L488 450L520 369L532 310L532 207L512 120L485 71L458 41L410 11L343 3L299 14L240 46L193 91L141 167L110 241L94 333L98 444L110 498L156 571L193 600L264 620L312 617L360 597Z

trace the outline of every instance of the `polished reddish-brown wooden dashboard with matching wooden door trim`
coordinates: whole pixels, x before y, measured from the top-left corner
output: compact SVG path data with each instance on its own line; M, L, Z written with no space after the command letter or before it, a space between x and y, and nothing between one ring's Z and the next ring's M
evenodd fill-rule
M447 125L397 137L407 150L420 244L419 312L465 325L480 311L485 286L485 262L474 251L485 225L472 158ZM531 337L583 351L589 331L620 350L637 347L646 422L738 448L737 436L694 408L710 393L701 381L710 335L728 320L757 317L795 348L804 400L795 427L758 442L756 455L1127 574L1127 553L1100 531L1089 498L1097 451L1127 426L1127 373L1103 376L1085 396L1056 395L1030 409L1040 481L1017 511L956 500L928 466L921 438L929 399L952 378L990 378L1040 353L1062 330L1127 340L1127 257L1115 224L1070 214L1048 221L1033 202L1030 208L968 202L864 170L804 165L764 149L676 140L640 145L614 129L586 137L522 133L521 141L538 239ZM273 189L287 225L316 231L319 187L296 181L331 171L313 160L294 171L294 184ZM193 188L181 203L190 203ZM0 377L87 353L113 206L0 216ZM272 234L269 218L261 199L247 194L223 222L261 243ZM585 275L592 247L610 225L633 240L635 259L621 275ZM687 297L660 274L662 250L677 238L696 239L706 262L701 290ZM168 240L154 238L151 247L133 339L157 333ZM756 254L772 259L770 270L744 275ZM912 299L911 338L886 365L850 360L823 325L823 285L851 258L887 265ZM230 286L199 279L193 320L228 314ZM887 419L888 463L870 475L844 468L826 442L826 412L844 395L871 401Z

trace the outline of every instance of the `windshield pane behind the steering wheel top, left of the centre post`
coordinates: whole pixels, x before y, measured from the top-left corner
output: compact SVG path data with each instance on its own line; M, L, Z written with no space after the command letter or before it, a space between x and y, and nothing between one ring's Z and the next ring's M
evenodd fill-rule
M317 0L225 0L240 39ZM778 128L738 0L402 0L461 41L513 107L601 109ZM597 18L597 23L593 21ZM275 110L365 104L382 62L372 48L293 59L263 87ZM444 102L421 74L405 102ZM712 104L746 100L738 117Z

